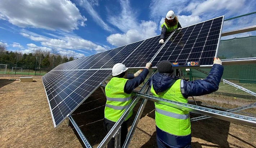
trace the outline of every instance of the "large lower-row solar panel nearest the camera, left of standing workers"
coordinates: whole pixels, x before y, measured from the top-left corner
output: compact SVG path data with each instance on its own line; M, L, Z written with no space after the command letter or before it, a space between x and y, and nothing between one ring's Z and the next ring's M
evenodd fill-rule
M111 72L111 70L60 70L50 71L44 75L42 81L54 127L72 114Z

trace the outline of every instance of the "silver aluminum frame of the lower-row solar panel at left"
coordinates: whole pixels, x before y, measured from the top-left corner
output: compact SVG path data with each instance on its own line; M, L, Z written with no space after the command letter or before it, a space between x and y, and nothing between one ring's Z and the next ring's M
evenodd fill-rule
M84 70L84 69L83 69ZM85 70L109 70L109 69L85 69ZM66 70L63 70L63 71L66 71ZM98 72L98 71L96 71L96 72ZM112 74L112 73L111 73ZM111 76L111 74L109 74L108 75L108 77L109 76ZM93 75L91 75L89 78L91 78ZM105 80L107 80L107 78L108 77L106 77L102 82L104 82ZM42 79L43 79L44 77L42 77ZM89 79L89 78L87 78L86 80L85 80L85 82ZM43 82L43 85L44 85L44 81L42 80L42 82ZM84 82L84 83L85 83ZM48 100L48 104L49 104L49 108L50 108L50 112L51 112L51 118L52 118L52 120L53 120L53 125L54 125L54 128L58 128L58 126L60 125L60 124L62 124L62 122L65 120L65 119L67 119L68 118L68 116L69 115L71 115L96 89L98 89L99 87L100 87L100 85L102 84L102 82L101 83L99 83L98 84L98 86L96 86L95 87L95 89L93 89L93 91L91 91L88 95L87 95L87 97L85 97L66 117L64 117L64 119L62 119L60 122L59 122L59 124L55 124L55 120L54 120L54 117L53 117L53 112L52 112L52 109L51 109L51 106L50 106L50 102L49 102L49 98L48 98L48 96L47 96L47 93L46 93L46 89L45 89L45 85L44 85L44 89L45 89L45 93L46 93L46 97L47 97L47 100ZM84 83L82 83L82 84L84 84ZM81 84L81 85L82 85ZM78 88L78 87L77 87Z

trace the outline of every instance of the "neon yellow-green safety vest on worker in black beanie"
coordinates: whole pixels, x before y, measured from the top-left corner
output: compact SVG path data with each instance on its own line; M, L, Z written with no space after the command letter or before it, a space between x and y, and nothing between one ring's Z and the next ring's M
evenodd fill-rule
M188 100L184 98L181 93L180 83L183 83L183 80L176 80L169 89L161 93L156 93L153 89L153 85L151 85L151 92L156 97L187 103ZM159 129L176 136L191 134L189 111L157 102L154 104L156 108L156 125Z

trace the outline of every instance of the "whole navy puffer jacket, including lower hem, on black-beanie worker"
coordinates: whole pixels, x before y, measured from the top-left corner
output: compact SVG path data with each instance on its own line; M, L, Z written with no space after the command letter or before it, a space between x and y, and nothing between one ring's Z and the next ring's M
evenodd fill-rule
M219 83L223 74L223 70L224 68L222 65L214 64L206 79L194 81L181 80L184 88L184 92L181 91L183 97L188 98L191 96L202 96L204 94L217 91L219 89ZM149 82L150 85L153 85L153 88L156 92L163 92L170 88L177 79L179 78L177 78L174 74L157 73L153 75L151 79L149 79ZM156 131L158 148L191 147L191 134L187 136L175 136L162 131L158 127L156 127Z

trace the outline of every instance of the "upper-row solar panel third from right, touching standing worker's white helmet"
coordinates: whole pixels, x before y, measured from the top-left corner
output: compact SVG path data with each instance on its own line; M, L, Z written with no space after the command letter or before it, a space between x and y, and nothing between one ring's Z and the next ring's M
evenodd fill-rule
M143 41L131 43L125 46L120 52L118 52L107 63L105 63L102 68L112 68L114 64L122 63Z

